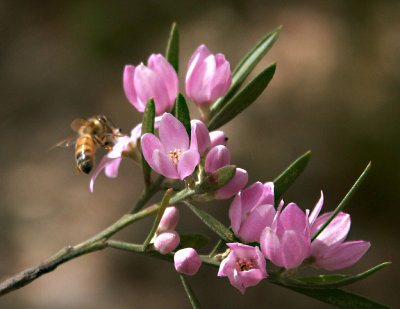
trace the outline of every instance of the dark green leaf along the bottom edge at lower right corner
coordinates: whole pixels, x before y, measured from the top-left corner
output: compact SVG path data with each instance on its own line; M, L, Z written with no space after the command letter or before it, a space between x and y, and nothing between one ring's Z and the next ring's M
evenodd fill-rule
M370 300L361 295L351 293L339 289L312 290L304 288L289 287L289 289L318 299L327 304L334 305L338 308L348 309L388 309L388 306Z

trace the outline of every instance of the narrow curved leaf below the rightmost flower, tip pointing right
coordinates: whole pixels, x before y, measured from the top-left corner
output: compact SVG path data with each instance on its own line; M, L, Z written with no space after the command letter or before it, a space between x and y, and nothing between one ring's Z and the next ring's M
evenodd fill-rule
M354 276L335 274L296 278L296 283L293 282L294 285L292 285L292 283L290 282L288 283L288 285L308 289L339 288L365 279L390 264L390 262L384 262Z

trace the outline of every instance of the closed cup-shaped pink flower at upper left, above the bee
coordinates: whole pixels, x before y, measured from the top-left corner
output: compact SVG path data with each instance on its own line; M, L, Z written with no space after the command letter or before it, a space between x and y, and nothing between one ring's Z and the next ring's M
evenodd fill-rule
M154 98L156 115L172 110L178 94L178 75L161 55L152 54L147 66L126 65L123 77L124 91L129 102L143 112L149 99Z

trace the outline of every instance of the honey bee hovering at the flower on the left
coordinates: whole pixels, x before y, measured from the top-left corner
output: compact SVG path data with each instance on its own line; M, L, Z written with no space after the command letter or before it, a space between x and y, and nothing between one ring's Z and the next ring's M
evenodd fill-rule
M75 144L75 160L78 174L89 174L94 166L97 148L110 150L115 138L122 136L121 130L104 115L96 115L89 119L76 118L71 123L76 135L70 136L54 147L70 147ZM53 148L53 147L52 147Z

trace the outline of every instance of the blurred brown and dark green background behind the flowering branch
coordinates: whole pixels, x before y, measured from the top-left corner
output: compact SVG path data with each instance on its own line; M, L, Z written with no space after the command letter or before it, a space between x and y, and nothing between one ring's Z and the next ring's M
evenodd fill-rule
M6 278L81 242L129 211L142 190L139 168L117 179L75 175L73 150L46 149L71 134L76 117L104 113L128 132L140 114L122 90L127 63L164 52L178 22L180 88L187 61L206 44L234 67L268 31L280 38L256 71L278 63L267 91L224 127L232 160L250 181L274 179L291 161L312 159L285 195L311 208L325 193L333 209L368 161L373 168L347 207L349 239L372 242L344 270L393 265L348 289L399 306L400 3L398 1L0 1L0 276ZM192 115L198 116L193 108ZM100 157L100 156L99 156ZM229 203L205 208L228 223ZM116 235L139 242L151 221ZM180 232L201 230L185 209ZM216 269L190 278L205 308L330 308L263 282L245 296ZM1 308L189 308L173 266L107 249L75 259L0 298Z

